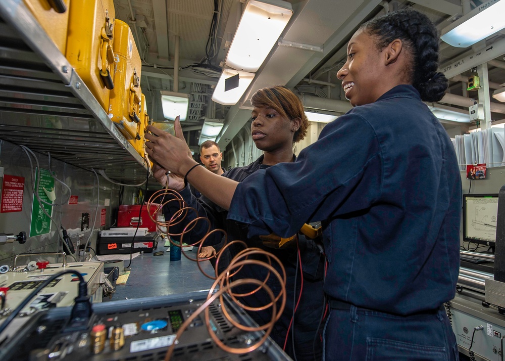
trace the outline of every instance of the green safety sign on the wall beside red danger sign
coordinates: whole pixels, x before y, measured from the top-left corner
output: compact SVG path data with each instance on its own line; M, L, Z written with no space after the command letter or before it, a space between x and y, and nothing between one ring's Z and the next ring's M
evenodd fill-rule
M35 169L35 183L37 179L38 168ZM51 172L47 169L40 169L40 180L38 183L38 196L41 200L47 203L53 203L55 191L55 178L51 175ZM51 198L50 198L51 197ZM30 222L30 237L45 235L51 232L51 218L49 218L44 211L44 207L47 214L52 215L53 206L42 203L40 204L37 197L33 195L32 202L32 217Z

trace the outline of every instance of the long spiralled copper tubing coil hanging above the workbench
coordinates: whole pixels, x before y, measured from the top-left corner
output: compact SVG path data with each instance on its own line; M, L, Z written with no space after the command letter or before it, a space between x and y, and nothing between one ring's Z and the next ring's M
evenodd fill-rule
M168 200L167 200L168 197ZM178 205L179 210L176 211L172 217L169 220L165 220L164 222L158 221L158 214L160 211L163 211L163 207L165 205L170 204L171 202L175 202L176 205ZM151 212L151 206L157 205L155 207L155 210ZM184 229L182 230L181 233L170 233L170 227L179 223L182 223L186 216L188 215L189 212L194 212L195 218L186 224ZM223 237L225 238L225 244L221 248L219 252L217 252L215 255L211 257L205 257L205 258L192 258L189 255L186 254L184 249L181 249L181 253L184 254L184 256L187 259L190 259L192 261L195 261L198 265L198 268L200 269L200 272L203 273L206 277L213 279L214 283L209 290L209 295L207 296L207 301L202 304L198 309L191 314L191 316L184 322L184 324L179 328L179 331L176 334L176 338L173 342L173 344L170 346L170 348L167 351L165 360L169 360L170 357L172 356L173 350L176 345L176 341L180 338L184 330L189 327L191 322L201 313L201 311L205 311L205 323L207 326L207 329L209 331L210 336L216 342L216 344L223 349L225 352L229 353L246 353L253 351L260 347L268 338L270 335L270 332L273 329L273 326L275 322L281 317L282 312L284 311L284 307L286 304L286 271L284 269L284 266L282 265L282 262L272 253L267 252L265 250L262 250L261 248L254 248L254 247L247 247L246 243L243 241L235 240L228 242L227 241L227 234L224 230L220 229L215 229L211 230L211 223L208 218L206 217L200 217L198 216L198 212L196 209L187 207L185 204L184 200L182 197L177 193L176 191L169 190L169 189L162 189L160 191L157 191L147 202L147 213L149 215L149 218L155 222L157 225L158 231L160 231L162 234L165 234L170 243L172 245L175 245L177 247L182 246L182 241L184 238L184 235L188 234L190 231L192 231L198 222L207 222L207 232L204 237L201 239L197 240L194 243L189 244L188 246L196 246L198 247L197 254L200 253L201 247L204 246L205 241L208 239L208 237L216 232L222 233ZM201 227L201 226L200 226ZM166 232L163 232L164 229L166 229ZM180 242L175 242L172 237L180 237ZM226 269L221 273L218 274L218 265L221 259L221 255L224 254L224 251L230 247L233 244L240 244L244 247L244 249L240 252L238 252L231 260L229 265L226 267ZM249 256L265 256L266 261L259 260L259 259L249 259ZM200 266L200 262L202 261L207 261L213 257L216 257L216 264L215 264L215 273L216 276L211 276L208 275L202 267ZM279 271L272 265L272 263L275 262L278 264L278 269L281 270ZM240 270L242 269L243 266L245 265L256 265L256 266L263 266L267 268L268 273L265 277L264 280L256 280L256 279L238 279L235 281L232 281L233 276L235 276ZM281 291L275 295L270 287L267 285L267 281L270 278L270 275L273 275L279 282L280 284L280 289ZM234 287L237 286L242 286L242 285L256 285L257 287L249 292L246 293L235 293L232 291ZM219 286L219 290L216 291L216 288ZM270 302L260 306L260 307L250 307L247 305L244 305L242 302L240 302L237 297L247 297L250 296L256 292L259 292L261 290L264 290L267 292L267 294L270 297ZM238 322L236 322L228 312L228 310L225 307L224 299L223 299L223 294L227 293L231 300L236 303L238 306L241 308L247 310L247 311L260 311L260 310L266 310L268 308L272 309L272 319L270 322L266 323L265 325L259 325L258 327L250 327L250 326L245 326L242 325ZM265 331L264 336L256 342L254 345L245 347L245 348L234 348L234 347L229 347L225 345L221 340L218 339L214 331L212 330L212 327L210 325L210 317L209 317L209 309L208 306L211 304L216 298L220 299L221 305L222 305L222 310L223 314L226 317L226 319L234 326L237 327L240 330L247 331L247 332L257 332L257 331ZM280 305L277 304L277 302L280 301Z

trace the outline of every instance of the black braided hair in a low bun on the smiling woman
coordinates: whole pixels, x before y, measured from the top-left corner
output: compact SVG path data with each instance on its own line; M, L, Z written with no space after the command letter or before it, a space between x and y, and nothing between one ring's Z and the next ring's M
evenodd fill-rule
M437 102L445 94L447 78L438 69L438 33L424 14L415 10L398 10L363 24L360 29L377 39L382 51L395 39L400 39L412 53L410 69L412 84L421 99Z

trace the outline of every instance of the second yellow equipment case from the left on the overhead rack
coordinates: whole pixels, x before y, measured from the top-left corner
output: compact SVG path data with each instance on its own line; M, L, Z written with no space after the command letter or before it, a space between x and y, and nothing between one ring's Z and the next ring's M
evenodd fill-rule
M72 0L66 58L106 112L114 88L113 0Z

